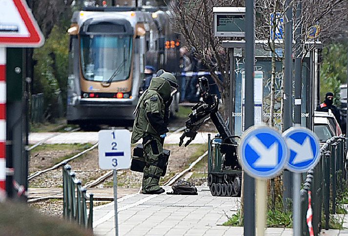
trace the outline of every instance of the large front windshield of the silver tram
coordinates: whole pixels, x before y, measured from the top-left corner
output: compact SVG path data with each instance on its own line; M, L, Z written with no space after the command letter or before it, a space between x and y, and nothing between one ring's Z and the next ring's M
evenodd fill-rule
M112 82L128 79L132 37L81 36L81 63L85 79Z

